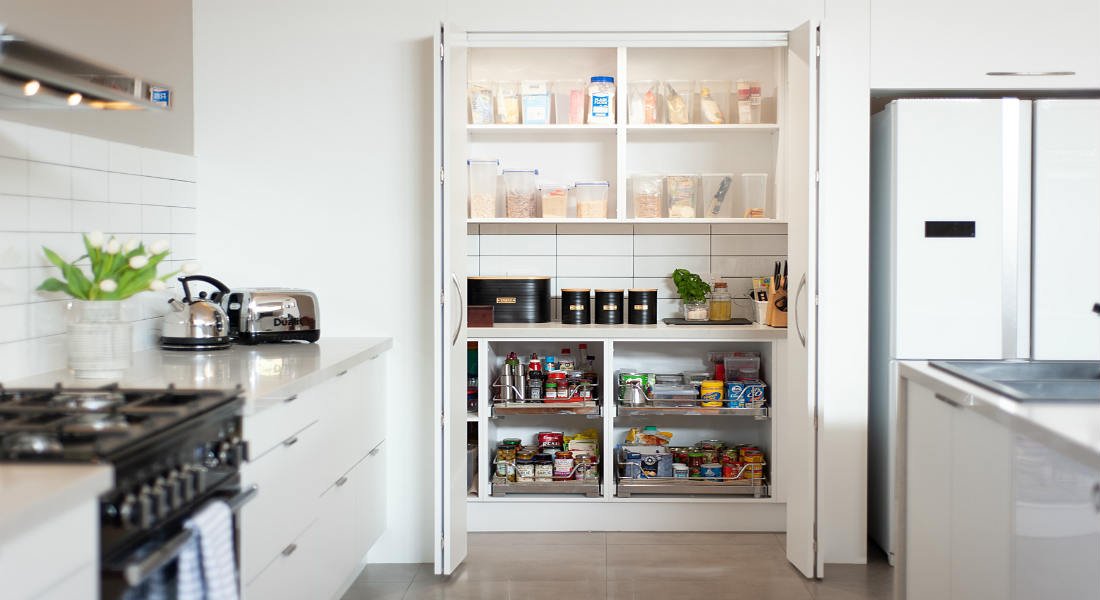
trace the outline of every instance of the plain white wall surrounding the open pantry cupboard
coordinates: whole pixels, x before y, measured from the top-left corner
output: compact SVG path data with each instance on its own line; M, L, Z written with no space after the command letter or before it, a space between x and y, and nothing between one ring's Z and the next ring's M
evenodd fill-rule
M404 392L391 399L387 425L404 450L391 458L389 528L372 559L432 555L436 419L422 366L431 362L428 316L438 295L430 281L430 117L439 21L468 29L789 30L821 20L822 4L195 2L204 263L231 285L317 291L324 336L396 338L389 375ZM821 535L831 563L860 561L866 552L866 385L853 384L866 380L867 356L866 4L831 0L839 25L829 33L826 22L824 35L825 52L835 52L826 69L843 73L823 80L822 114L823 458L846 465L827 471L823 489ZM846 42L849 35L864 37Z

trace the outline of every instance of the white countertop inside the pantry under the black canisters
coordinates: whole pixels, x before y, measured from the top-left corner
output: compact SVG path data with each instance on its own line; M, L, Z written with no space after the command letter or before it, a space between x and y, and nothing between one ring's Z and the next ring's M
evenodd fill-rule
M466 329L470 339L638 339L669 341L759 341L787 339L785 328L751 325L562 325L499 323Z

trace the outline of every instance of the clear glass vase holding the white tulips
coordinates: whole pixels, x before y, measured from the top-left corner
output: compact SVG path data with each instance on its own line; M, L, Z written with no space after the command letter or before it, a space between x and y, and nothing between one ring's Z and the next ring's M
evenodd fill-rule
M133 326L120 301L69 303L69 369L81 379L119 379L131 363Z

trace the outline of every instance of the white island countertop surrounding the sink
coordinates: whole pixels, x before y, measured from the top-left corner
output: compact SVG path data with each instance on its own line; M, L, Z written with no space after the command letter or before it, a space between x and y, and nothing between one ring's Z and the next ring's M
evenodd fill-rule
M1100 469L1100 403L1016 402L926 361L899 362L899 374L1040 444Z

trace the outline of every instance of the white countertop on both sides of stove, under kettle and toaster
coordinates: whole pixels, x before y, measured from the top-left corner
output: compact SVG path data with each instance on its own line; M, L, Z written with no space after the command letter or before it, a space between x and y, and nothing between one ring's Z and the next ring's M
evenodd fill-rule
M393 345L393 338L323 338L317 343L233 346L213 352L154 349L135 352L133 366L118 382L131 388L175 384L227 389L240 384L249 416L374 358ZM110 382L76 379L62 369L4 383L9 388L36 388ZM0 463L0 539L19 527L96 498L113 484L114 470L110 466Z

